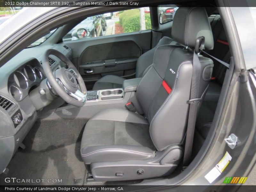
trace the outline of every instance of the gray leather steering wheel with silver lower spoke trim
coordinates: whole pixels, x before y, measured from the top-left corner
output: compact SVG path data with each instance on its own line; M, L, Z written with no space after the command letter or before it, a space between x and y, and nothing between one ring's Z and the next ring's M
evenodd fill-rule
M55 55L63 61L68 68L59 68L52 72L49 64L49 55ZM54 91L67 103L76 107L82 107L86 102L87 90L82 76L73 63L61 52L48 49L42 58L45 76Z

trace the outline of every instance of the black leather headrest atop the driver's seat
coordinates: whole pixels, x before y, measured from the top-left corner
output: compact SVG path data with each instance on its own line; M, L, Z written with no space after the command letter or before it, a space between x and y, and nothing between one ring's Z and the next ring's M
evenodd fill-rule
M205 8L180 7L173 18L172 39L193 49L200 36L204 36L205 49L213 49L212 29Z

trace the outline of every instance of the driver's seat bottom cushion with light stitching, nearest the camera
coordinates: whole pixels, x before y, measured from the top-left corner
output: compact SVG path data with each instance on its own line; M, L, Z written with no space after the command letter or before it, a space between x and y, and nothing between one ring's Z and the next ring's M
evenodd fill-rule
M81 156L86 164L148 159L154 155L149 124L138 114L125 109L108 108L85 125Z

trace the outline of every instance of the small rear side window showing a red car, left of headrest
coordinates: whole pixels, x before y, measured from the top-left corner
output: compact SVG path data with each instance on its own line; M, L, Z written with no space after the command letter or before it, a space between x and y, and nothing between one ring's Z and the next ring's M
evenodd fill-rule
M175 12L179 7L175 5L161 5L158 7L158 17L159 23L164 24L169 21L172 21L175 15Z

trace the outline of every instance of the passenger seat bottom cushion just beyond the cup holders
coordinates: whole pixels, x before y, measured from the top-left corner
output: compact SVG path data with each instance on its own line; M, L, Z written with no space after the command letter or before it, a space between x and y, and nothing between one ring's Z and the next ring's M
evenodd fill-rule
M115 75L106 75L96 81L93 85L92 90L103 90L103 89L115 89L122 88L125 78L115 76Z

